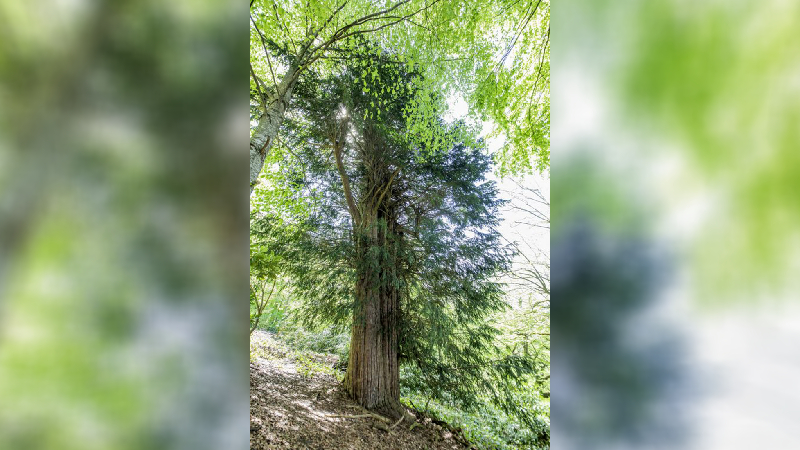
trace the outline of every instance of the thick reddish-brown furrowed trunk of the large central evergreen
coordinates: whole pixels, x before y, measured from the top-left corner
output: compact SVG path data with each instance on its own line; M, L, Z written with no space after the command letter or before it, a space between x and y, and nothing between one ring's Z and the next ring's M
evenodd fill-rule
M358 207L351 206L357 255L356 302L344 386L361 406L389 417L402 415L398 366L398 217L387 148L372 127L363 130L359 160L366 175ZM349 183L337 156L342 182ZM350 191L347 189L346 191ZM351 194L346 193L347 196ZM354 205L353 198L347 199Z

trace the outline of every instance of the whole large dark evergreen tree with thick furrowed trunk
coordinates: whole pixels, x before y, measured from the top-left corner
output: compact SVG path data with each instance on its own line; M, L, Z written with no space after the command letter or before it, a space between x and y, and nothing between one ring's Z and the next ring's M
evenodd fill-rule
M394 59L374 53L373 61ZM305 242L282 254L306 317L349 323L347 391L396 416L401 364L449 392L461 389L452 374L493 370L497 330L486 319L505 306L492 277L509 253L495 229L496 188L484 179L491 157L461 123L437 124L446 151L416 146L403 116L420 74L393 62L368 69L378 75L366 85L360 67L347 66L302 86L303 113L284 134L306 167L297 195L318 201ZM396 93L381 94L387 87ZM510 368L525 363L501 370Z

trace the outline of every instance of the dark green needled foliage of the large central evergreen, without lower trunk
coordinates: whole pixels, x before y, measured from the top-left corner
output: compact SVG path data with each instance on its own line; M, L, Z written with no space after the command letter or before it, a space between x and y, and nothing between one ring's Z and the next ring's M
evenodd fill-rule
M485 395L544 429L514 397L532 389L535 358L499 348L490 322L507 307L496 276L511 257L496 230L501 202L485 178L492 158L464 123L441 119L428 133L447 150L427 151L410 136L406 114L424 80L391 55L364 54L371 57L335 76L307 72L284 122L284 144L304 173L292 184L295 198L313 199L297 239L272 241L302 299L300 317L309 327L344 330L368 274L369 283L398 294L405 383L465 408ZM361 77L364 69L374 76ZM370 211L371 224L356 220ZM256 222L256 236L275 232L275 222Z

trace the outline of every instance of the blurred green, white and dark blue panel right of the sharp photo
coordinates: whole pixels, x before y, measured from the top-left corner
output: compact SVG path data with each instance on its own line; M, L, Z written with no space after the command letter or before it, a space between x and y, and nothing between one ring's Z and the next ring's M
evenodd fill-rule
M800 3L552 14L556 448L797 448Z

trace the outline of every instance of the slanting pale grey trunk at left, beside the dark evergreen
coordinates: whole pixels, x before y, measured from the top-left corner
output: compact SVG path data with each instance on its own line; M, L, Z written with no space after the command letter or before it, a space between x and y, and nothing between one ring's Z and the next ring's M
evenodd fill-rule
M253 137L250 138L250 193L264 168L264 160L275 144L275 138L283 123L286 108L292 99L292 90L297 82L297 67L292 66L286 72L277 89L266 101L264 115L258 123Z

